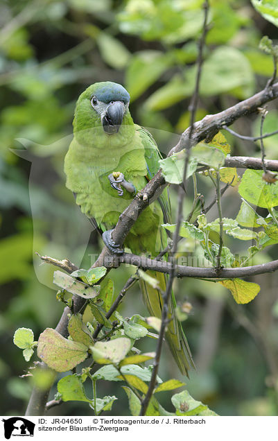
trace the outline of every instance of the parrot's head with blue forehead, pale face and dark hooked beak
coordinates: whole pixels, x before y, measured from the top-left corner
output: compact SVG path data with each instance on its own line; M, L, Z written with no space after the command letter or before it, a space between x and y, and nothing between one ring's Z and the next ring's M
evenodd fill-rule
M76 130L101 126L105 134L114 135L122 123L131 124L129 103L130 95L123 86L110 81L94 83L78 98L73 126Z

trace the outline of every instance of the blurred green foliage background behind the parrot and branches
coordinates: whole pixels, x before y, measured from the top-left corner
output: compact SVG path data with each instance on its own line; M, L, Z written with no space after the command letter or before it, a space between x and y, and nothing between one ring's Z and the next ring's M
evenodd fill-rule
M278 37L275 24L263 19L250 1L210 3L211 28L198 119L264 87L273 67L271 57L259 51L259 41L262 35L272 40ZM1 415L24 413L31 391L28 378L19 378L27 365L21 351L12 345L15 329L30 327L37 339L45 327L55 327L62 311L51 287L53 268L40 266L34 251L70 257L78 263L87 243L82 234L87 221L76 211L62 171L78 95L96 81L122 83L130 92L134 121L157 129L154 135L159 146L168 150L173 141L169 133L181 133L189 125L187 109L196 76L202 16L202 0L1 3L0 381L6 397ZM268 110L266 132L277 129L277 103L270 103ZM259 119L241 119L234 127L245 135L257 135ZM232 155L259 156L258 145L227 139L233 146ZM277 137L266 139L265 145L267 157L278 159ZM21 151L10 150L15 148ZM200 185L213 196L213 189ZM230 217L241 203L239 198L234 200L235 194L230 191L224 204ZM186 210L190 211L189 202ZM83 268L89 266L89 254L97 253L100 245L92 233ZM253 263L275 258L275 246L268 254L260 253ZM116 290L130 271L123 267L113 271ZM278 374L277 275L254 281L261 285L261 293L247 306L235 305L225 288L212 283L176 282L177 300L193 304L185 327L198 376L192 374L186 387L220 415L277 413L272 388ZM138 288L128 293L121 313L146 315ZM153 342L146 349L154 350ZM170 372L171 377L180 378L168 355L165 348L160 376L167 379ZM105 384L102 395L123 398L111 415L128 414L118 383ZM51 410L58 415L87 412L85 404L74 402Z

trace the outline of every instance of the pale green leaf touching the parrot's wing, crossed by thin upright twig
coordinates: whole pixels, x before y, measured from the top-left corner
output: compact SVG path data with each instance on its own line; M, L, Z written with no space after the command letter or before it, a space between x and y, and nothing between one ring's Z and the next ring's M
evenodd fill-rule
M184 175L185 153L182 150L179 153L159 159L159 166L162 169L162 174L166 182L169 184L181 184ZM186 170L186 178L189 178L196 171L198 162L196 159L190 159Z

